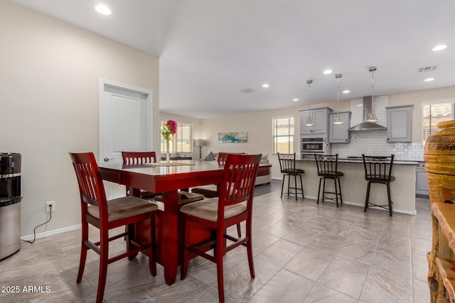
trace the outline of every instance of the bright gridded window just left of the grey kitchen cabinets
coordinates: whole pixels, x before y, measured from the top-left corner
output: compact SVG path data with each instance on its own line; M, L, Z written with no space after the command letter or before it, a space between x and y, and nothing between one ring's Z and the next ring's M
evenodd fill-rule
M294 117L272 120L273 153L294 153Z

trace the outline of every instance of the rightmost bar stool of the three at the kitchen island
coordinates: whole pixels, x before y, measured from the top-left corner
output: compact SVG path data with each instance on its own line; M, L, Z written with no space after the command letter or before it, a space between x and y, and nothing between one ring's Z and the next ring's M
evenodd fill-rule
M367 211L368 206L377 206L382 209L388 209L389 216L392 216L392 198L390 197L390 182L395 180L392 176L393 158L395 155L390 156L370 156L362 155L363 166L365 167L365 180L368 181L367 196L365 198L364 212ZM378 205L370 202L370 187L373 183L385 184L387 186L387 199L388 205Z

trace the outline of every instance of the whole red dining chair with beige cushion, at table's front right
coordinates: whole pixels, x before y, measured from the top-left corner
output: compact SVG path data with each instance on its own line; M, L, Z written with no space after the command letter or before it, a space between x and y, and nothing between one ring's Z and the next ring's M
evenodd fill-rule
M203 243L194 245L184 244L183 260L181 262L181 280L188 272L188 260L193 255L200 255L216 263L218 276L218 297L224 302L223 283L223 255L228 251L242 245L247 248L250 275L255 277L255 267L252 254L252 206L255 190L257 167L261 155L235 155L229 154L223 170L218 198L206 199L182 206L180 211L185 221L185 241L188 236L189 226L195 223L212 229L213 236ZM228 227L245 221L245 237L235 238L228 235ZM230 242L228 242L230 241ZM232 242L232 243L231 243ZM210 255L208 251L213 251Z

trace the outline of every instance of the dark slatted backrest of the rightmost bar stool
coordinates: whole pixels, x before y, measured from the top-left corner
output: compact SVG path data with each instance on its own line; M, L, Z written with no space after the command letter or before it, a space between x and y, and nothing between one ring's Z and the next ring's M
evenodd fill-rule
M395 155L362 155L363 166L365 167L365 180L390 182L394 157Z

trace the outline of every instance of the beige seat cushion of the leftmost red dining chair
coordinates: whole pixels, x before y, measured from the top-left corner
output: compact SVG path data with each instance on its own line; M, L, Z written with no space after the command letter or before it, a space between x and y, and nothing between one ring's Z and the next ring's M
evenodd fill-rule
M138 197L127 196L112 199L107 202L107 221L116 221L149 211L156 211L156 209L158 209L158 205ZM100 209L98 206L90 205L87 211L95 218L100 219Z

